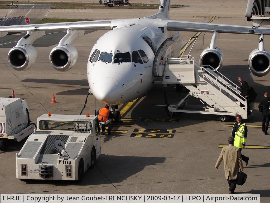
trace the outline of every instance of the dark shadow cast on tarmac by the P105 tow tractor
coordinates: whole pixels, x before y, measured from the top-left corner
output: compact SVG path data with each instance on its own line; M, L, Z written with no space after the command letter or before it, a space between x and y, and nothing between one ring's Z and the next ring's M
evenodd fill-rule
M65 185L102 185L124 182L130 176L142 171L145 167L163 163L164 157L141 157L141 156L112 156L101 154L97 159L96 166L88 169L80 183L74 181L51 181L36 180L26 184L52 184Z

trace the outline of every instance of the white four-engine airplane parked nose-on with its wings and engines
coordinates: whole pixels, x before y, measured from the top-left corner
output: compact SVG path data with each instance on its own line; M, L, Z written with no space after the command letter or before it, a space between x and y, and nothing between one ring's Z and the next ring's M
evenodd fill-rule
M93 46L87 62L87 78L93 95L104 104L115 107L145 94L162 72L162 64L170 55L179 53L179 31L212 32L212 40L200 56L201 65L220 70L222 51L216 47L219 33L256 34L259 47L249 55L249 69L256 76L270 71L270 54L264 49L264 35L269 28L185 22L169 19L170 0L160 0L159 12L144 18L98 20L82 22L14 25L0 27L0 37L8 32L27 31L8 53L8 61L15 70L27 70L37 57L33 42L45 31L67 34L50 52L53 68L68 71L77 60L77 50L71 44L83 36L85 30L110 30ZM177 51L177 52L175 52ZM116 117L120 119L119 112Z

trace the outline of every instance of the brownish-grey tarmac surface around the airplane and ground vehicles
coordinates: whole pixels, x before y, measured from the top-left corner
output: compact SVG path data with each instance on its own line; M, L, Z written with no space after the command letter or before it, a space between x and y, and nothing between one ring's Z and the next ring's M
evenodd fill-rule
M159 3L158 1L145 1ZM173 1L172 1L173 2ZM175 1L176 2L176 1ZM132 3L132 2L131 2ZM208 22L214 18L215 24L251 25L245 19L246 1L181 1L190 7L173 8L171 19L183 21ZM0 9L4 17L10 9ZM19 16L32 15L32 18L43 18L48 10L35 13L32 9L20 11ZM73 12L50 10L48 18L137 18L157 12L157 9L134 10L84 10ZM16 13L16 12L15 12ZM8 17L15 16L11 12ZM144 14L145 13L145 14ZM16 14L17 15L17 14ZM25 33L17 33L0 39L0 96L8 97L12 90L16 97L26 100L31 120L35 121L41 114L79 114L89 89L86 76L86 61L96 40L107 31L95 31L76 39L73 45L79 56L75 66L68 72L58 72L49 64L49 53L62 38L61 34L52 34L50 38L36 41L38 57L35 64L27 71L13 70L8 63L7 54L10 47L15 46ZM181 32L184 45L194 32ZM206 47L210 45L210 33L202 33L191 51L195 60ZM12 45L8 43L13 41ZM265 36L266 49L270 46L269 36ZM255 89L258 96L253 104L253 116L246 121L248 125L261 125L261 114L258 103L263 94L269 92L270 74L256 77L249 72L249 53L258 48L258 36L220 34L217 47L224 53L224 65L221 73L238 83L242 76ZM188 92L177 92L174 86L154 87L142 98L122 111L122 126L113 130L122 133L112 133L102 136L101 155L95 168L88 170L81 183L62 181L21 182L16 179L15 156L23 142L10 142L10 149L0 152L0 193L47 193L47 194L227 194L228 183L224 177L223 162L220 170L215 169L215 163L220 154L219 144L226 144L231 134L230 126L221 126L217 117L204 114L174 114L170 118L164 107L163 92L166 91L169 103L180 101ZM50 103L52 93L57 103ZM199 106L195 99L191 104ZM104 104L96 101L90 95L83 114L94 114L94 110ZM133 119L133 121L132 121ZM158 119L165 119L161 121ZM230 120L227 123L234 123ZM224 123L222 123L224 124ZM126 126L130 125L130 126ZM170 138L162 137L130 137L136 129L176 130ZM249 127L247 145L269 146L269 135L264 135L260 128ZM260 194L260 202L270 201L270 161L267 149L243 149L242 153L249 157L248 166L244 172L248 178L243 186L237 186L238 194ZM245 165L245 163L244 163ZM153 169L156 168L156 169ZM35 187L35 189L33 189Z

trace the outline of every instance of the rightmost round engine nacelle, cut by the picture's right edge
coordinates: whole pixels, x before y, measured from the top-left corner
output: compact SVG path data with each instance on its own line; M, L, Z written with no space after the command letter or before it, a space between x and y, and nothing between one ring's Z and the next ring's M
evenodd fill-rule
M248 66L255 76L265 76L270 71L270 54L266 50L253 50L248 57Z

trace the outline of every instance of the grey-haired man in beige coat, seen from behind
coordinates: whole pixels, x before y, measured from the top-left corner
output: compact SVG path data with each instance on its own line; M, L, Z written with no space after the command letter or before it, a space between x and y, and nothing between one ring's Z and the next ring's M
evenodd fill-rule
M222 148L220 156L216 163L216 169L224 159L225 178L229 183L229 194L234 194L236 188L237 173L243 171L240 149L234 146L234 137L228 138L229 145Z

